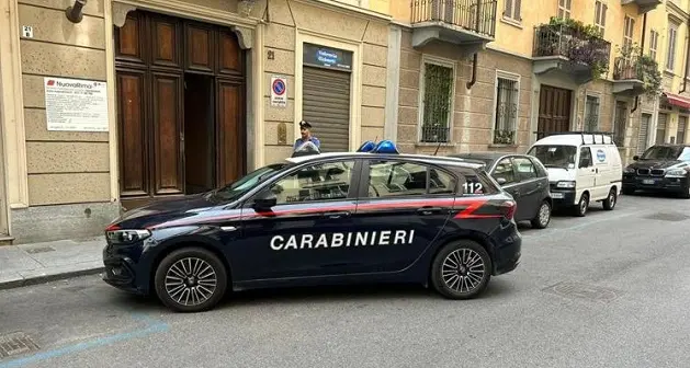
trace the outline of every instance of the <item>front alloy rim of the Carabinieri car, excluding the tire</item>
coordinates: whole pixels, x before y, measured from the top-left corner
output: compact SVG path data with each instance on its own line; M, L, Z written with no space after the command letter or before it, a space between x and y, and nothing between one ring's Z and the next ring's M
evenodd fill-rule
M208 262L197 257L181 258L166 273L166 292L181 306L205 302L215 294L217 284L216 271Z

